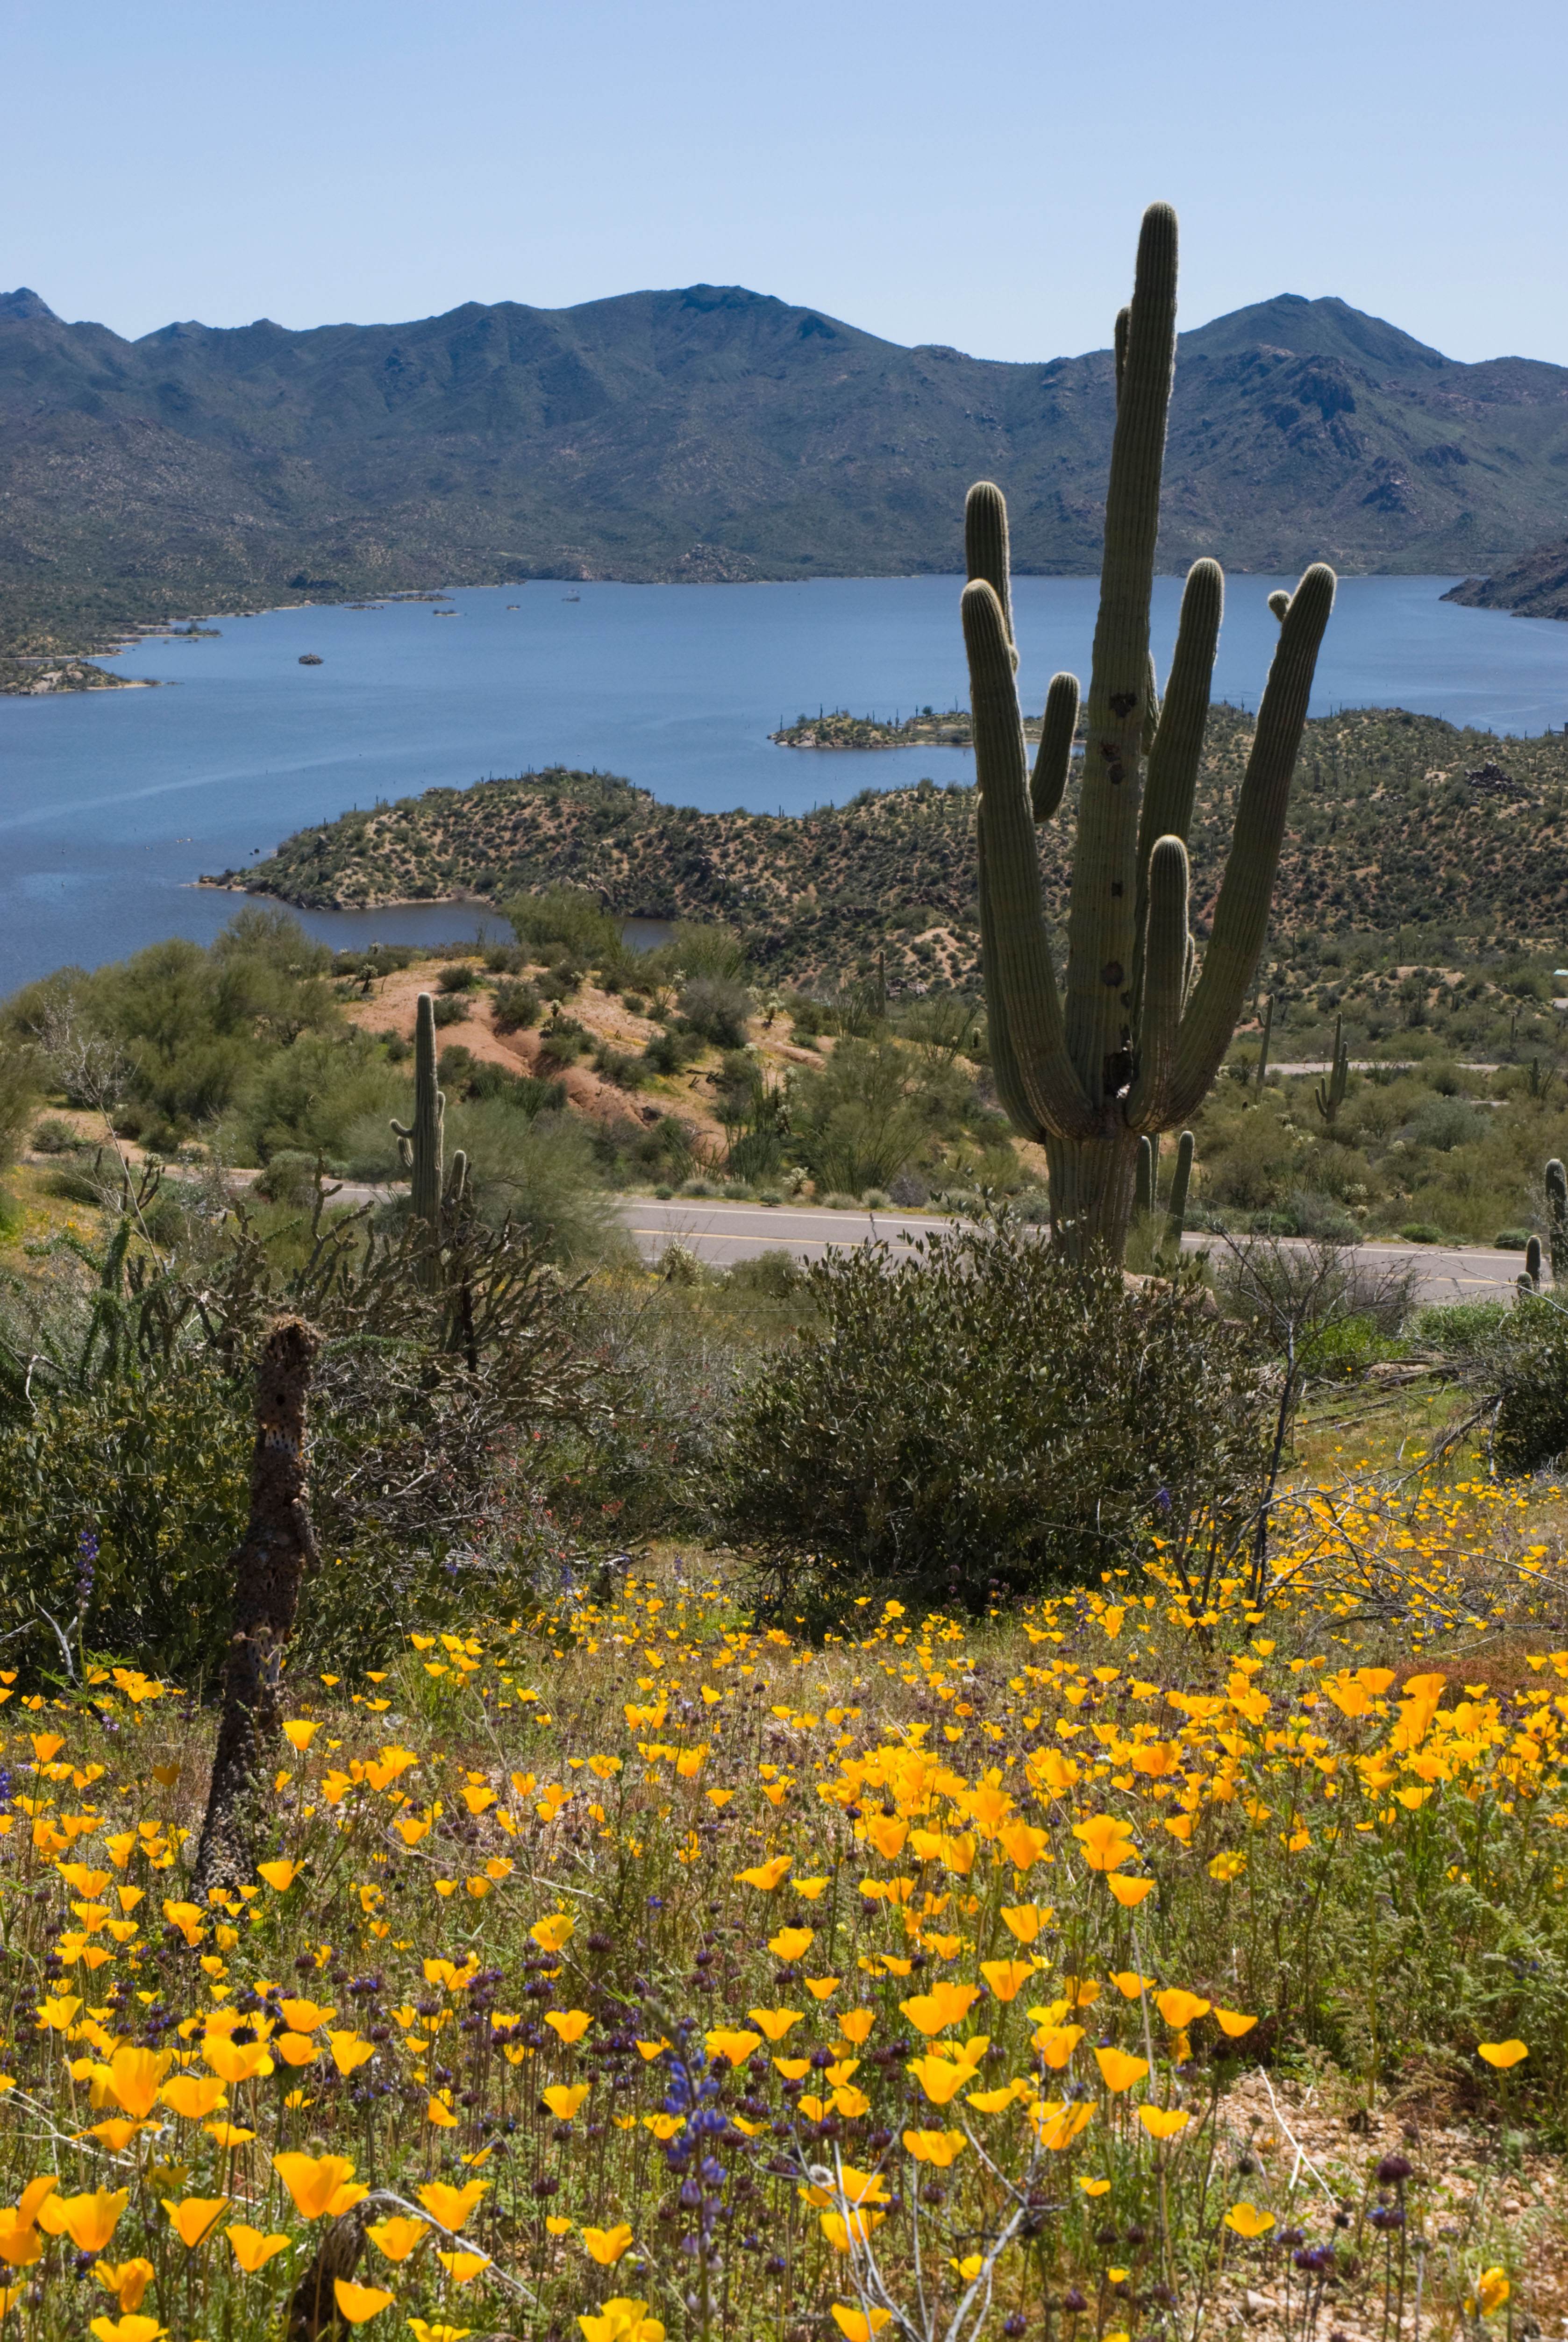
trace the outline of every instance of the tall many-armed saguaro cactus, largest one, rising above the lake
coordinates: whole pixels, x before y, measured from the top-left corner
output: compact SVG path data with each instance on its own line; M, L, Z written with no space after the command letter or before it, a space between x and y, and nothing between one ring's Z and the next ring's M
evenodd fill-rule
M1223 578L1195 562L1177 651L1155 703L1148 597L1177 335L1177 215L1144 213L1132 307L1118 321L1118 398L1106 492L1088 747L1057 993L1034 824L1069 775L1078 686L1057 677L1034 780L1024 759L1008 593L1008 513L989 480L966 511L963 639L980 778L980 932L991 1063L1015 1129L1043 1141L1057 1244L1123 1253L1139 1138L1186 1122L1207 1094L1254 979L1273 897L1301 726L1334 571L1313 564L1280 618L1235 813L1214 932L1195 970L1186 836Z

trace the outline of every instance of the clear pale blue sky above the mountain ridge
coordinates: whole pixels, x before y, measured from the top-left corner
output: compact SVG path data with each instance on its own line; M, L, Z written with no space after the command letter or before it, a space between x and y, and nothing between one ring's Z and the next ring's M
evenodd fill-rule
M0 0L0 286L410 319L748 283L895 342L1109 340L1338 293L1568 363L1563 0Z

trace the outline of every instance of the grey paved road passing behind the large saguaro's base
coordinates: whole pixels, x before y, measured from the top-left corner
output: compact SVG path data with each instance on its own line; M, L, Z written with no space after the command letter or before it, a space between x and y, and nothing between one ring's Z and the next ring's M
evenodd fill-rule
M820 1260L837 1246L884 1239L895 1258L907 1258L912 1239L947 1223L919 1211L827 1211L813 1204L717 1204L696 1197L621 1197L621 1218L645 1260L659 1260L668 1244L684 1244L698 1260L729 1265L757 1253L788 1251L797 1260ZM1214 1244L1212 1237L1188 1237L1186 1251ZM1444 1244L1362 1244L1369 1267L1413 1267L1423 1302L1512 1300L1514 1279L1523 1267L1519 1253L1491 1246Z

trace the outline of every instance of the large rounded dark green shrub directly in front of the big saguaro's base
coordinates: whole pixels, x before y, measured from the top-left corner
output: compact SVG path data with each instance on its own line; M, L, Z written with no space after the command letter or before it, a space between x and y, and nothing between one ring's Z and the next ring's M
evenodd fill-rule
M984 1609L1252 1504L1268 1379L1191 1288L1130 1290L1001 1220L902 1267L832 1253L802 1293L818 1330L748 1386L720 1471L731 1536L797 1607L806 1553L839 1586Z

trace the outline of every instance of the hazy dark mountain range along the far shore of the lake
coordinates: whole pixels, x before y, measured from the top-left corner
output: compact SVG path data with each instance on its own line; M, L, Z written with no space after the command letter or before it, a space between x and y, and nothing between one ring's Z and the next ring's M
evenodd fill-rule
M523 576L954 569L998 480L1024 571L1090 571L1109 349L905 349L741 286L403 326L164 326L0 295L19 625ZM1160 562L1481 571L1561 527L1568 368L1455 363L1282 293L1181 335Z

